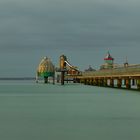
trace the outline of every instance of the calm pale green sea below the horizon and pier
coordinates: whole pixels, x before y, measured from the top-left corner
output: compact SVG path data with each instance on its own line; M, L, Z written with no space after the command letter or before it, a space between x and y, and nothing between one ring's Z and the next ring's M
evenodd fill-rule
M1 140L140 140L140 92L0 81Z

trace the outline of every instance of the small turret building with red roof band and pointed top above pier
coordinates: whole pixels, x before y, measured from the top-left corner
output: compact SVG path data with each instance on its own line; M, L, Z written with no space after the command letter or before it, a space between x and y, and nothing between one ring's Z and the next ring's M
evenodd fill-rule
M100 66L100 69L112 69L114 68L114 58L108 52L104 58L104 64Z

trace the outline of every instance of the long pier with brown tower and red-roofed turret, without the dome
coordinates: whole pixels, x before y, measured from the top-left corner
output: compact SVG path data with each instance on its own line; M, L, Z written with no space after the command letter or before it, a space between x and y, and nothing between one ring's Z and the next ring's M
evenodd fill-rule
M114 58L108 52L104 58L105 63L101 65L99 70L68 74L68 72L63 71L64 69L69 71L66 67L67 63L62 59L64 57L61 56L60 58L62 85L66 79L72 79L74 83L83 83L85 85L140 90L140 64L129 65L126 60L124 65L116 66L113 62ZM70 68L74 69L73 66Z

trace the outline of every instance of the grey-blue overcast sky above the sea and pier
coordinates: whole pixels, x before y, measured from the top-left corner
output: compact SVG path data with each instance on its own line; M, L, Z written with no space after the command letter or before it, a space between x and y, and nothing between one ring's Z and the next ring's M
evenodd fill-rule
M40 59L65 54L83 70L140 64L139 0L0 0L0 77L34 76Z

